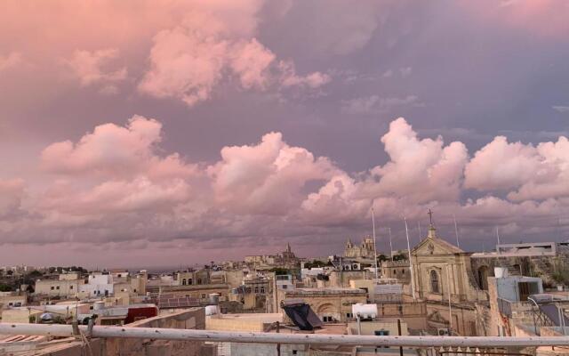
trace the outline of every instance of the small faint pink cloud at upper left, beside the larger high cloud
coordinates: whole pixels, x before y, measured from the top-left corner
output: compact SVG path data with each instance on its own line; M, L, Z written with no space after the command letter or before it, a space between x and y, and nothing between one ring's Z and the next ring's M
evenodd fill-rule
M126 67L109 69L111 61L118 58L116 48L107 48L98 51L79 51L73 53L68 65L73 69L82 86L100 84L102 93L116 93L116 83L126 78Z

